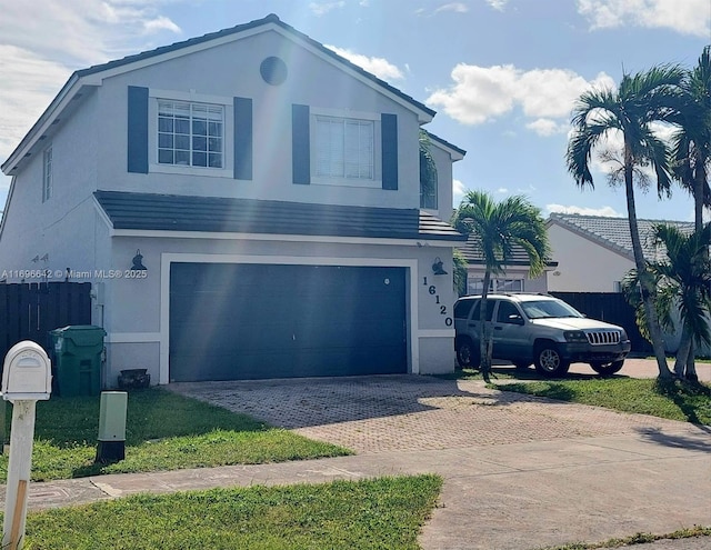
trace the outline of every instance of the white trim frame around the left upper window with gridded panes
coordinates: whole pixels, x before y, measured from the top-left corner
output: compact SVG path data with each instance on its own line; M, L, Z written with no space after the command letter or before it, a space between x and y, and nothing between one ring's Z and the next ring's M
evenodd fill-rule
M150 173L169 173L182 176L200 176L204 178L229 178L233 176L233 140L234 127L232 121L232 98L223 96L208 96L197 93L194 90L181 92L174 90L150 89L148 92L150 98L148 104L148 150L149 162L148 171ZM209 167L186 167L177 164L160 164L158 162L158 102L166 101L187 101L191 103L209 103L221 106L223 109L224 120L222 124L222 168Z

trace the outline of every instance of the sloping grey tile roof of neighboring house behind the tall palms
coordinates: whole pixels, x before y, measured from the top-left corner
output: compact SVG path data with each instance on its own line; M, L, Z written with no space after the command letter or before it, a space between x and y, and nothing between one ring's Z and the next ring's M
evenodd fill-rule
M657 249L650 238L654 224L667 223L689 233L694 230L694 224L690 221L637 220L637 222L644 258L652 261L664 259L664 251ZM548 227L553 223L634 261L628 218L605 218L602 216L563 214L554 212L551 213L548 220Z

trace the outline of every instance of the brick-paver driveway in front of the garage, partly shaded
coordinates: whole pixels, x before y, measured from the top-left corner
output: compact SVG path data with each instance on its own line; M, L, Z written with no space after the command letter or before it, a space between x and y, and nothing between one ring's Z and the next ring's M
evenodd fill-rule
M173 391L352 449L458 449L678 430L685 424L419 376L173 383Z

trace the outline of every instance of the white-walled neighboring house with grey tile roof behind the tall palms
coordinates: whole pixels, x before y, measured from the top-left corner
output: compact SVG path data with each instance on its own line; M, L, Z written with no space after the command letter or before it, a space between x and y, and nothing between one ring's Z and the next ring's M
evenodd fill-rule
M650 239L652 226L668 223L692 232L693 222L638 220L647 259L663 260ZM548 272L552 292L621 292L624 274L634 268L634 253L627 218L551 213L548 239L558 268ZM679 320L677 319L677 322ZM680 331L664 334L664 347L675 352ZM708 350L707 350L708 351Z

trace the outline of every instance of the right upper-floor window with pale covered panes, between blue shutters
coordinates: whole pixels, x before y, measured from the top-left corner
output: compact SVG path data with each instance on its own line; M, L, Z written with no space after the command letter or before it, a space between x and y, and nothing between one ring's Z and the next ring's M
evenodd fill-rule
M316 117L316 176L374 180L372 120Z

